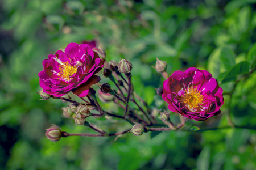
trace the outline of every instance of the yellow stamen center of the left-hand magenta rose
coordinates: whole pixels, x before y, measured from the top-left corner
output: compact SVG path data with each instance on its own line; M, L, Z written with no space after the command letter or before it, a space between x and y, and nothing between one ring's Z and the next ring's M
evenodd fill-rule
M60 65L59 67L59 79L64 79L64 80L71 80L72 79L72 76L73 74L76 73L77 71L77 68L74 67L74 66L71 66L70 63L68 61L66 62L63 62L63 65Z

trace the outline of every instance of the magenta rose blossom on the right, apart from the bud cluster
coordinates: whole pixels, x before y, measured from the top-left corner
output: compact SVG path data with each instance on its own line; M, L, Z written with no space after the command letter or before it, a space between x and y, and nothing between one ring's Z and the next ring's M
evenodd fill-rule
M163 99L172 112L204 121L221 113L224 104L223 90L206 70L194 67L175 71L163 82Z

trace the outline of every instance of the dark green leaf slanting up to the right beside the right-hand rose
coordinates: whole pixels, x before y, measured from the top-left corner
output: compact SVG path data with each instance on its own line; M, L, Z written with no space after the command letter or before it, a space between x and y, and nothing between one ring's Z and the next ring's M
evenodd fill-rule
M232 80L236 80L236 76L239 74L249 73L249 66L250 64L248 61L242 61L238 63L226 73L224 78L221 80L221 83L226 83Z

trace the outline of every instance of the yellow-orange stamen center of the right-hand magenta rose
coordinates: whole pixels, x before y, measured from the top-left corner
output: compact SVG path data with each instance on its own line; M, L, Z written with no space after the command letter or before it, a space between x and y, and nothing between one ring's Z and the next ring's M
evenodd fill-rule
M184 95L185 99L183 102L192 112L195 112L200 104L204 101L204 96L200 94L200 91L197 90L197 87L188 88Z

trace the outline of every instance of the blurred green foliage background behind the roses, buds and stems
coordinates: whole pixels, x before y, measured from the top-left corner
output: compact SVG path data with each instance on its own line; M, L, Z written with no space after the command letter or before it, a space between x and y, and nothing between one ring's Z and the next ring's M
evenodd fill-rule
M97 39L107 61L125 57L133 63L135 91L152 108L163 104L155 96L164 80L151 67L156 57L167 61L169 74L192 66L210 71L226 93L232 80L241 79L232 100L224 96L220 116L187 125L230 126L230 113L234 124L255 128L255 8L255 0L0 1L0 169L256 169L256 133L246 127L54 143L44 136L51 124L70 133L86 128L61 116L67 104L40 101L36 94L48 54ZM241 61L246 71L232 75ZM113 131L127 127L122 121L90 121Z

